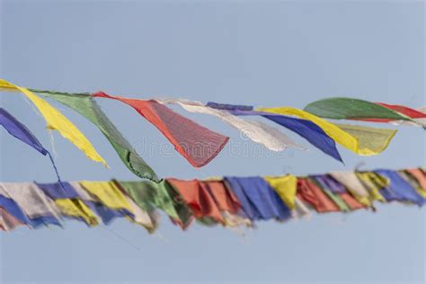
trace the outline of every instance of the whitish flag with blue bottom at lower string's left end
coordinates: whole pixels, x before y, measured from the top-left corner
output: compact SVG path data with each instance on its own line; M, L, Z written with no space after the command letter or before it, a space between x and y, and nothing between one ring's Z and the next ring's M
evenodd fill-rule
M31 226L60 226L58 207L35 183L0 182L0 194L16 202L31 219Z

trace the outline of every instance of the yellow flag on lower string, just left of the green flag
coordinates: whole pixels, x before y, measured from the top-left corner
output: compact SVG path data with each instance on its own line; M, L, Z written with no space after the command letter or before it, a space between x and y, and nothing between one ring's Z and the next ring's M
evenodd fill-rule
M110 209L118 209L126 214L133 214L129 201L114 182L80 182L84 190L89 192L102 205Z

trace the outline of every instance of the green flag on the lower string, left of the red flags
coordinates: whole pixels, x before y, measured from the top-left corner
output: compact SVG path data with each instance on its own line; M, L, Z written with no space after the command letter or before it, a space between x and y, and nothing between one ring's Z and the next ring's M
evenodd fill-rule
M118 181L116 181L118 182ZM173 188L166 182L118 182L123 191L138 204L141 209L148 214L155 211L155 208L162 209L182 228L186 228L191 223L191 213L184 212L182 205L177 204L173 197ZM186 214L182 214L186 213Z

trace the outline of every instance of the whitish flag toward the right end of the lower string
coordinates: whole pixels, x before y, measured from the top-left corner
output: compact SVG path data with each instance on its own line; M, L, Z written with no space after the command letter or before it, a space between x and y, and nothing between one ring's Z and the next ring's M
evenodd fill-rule
M330 173L334 180L341 182L353 197L365 206L371 205L371 199L367 188L359 181L354 172L333 172Z

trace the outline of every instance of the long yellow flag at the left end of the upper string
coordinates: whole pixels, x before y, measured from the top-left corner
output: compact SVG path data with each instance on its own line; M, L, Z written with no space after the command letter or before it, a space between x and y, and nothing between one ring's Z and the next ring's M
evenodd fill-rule
M64 137L79 148L83 153L95 162L100 162L108 166L102 156L96 152L92 143L84 137L84 134L75 127L60 111L52 107L49 102L44 101L30 90L11 84L0 79L0 91L21 92L37 107L47 122L47 129L55 129Z

